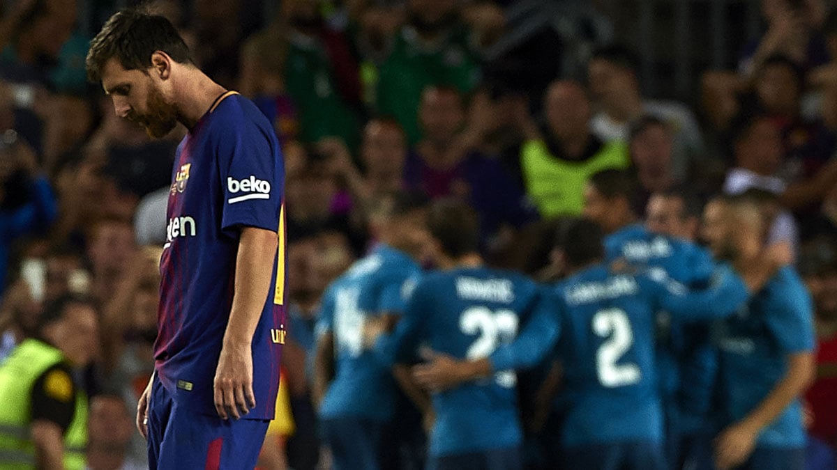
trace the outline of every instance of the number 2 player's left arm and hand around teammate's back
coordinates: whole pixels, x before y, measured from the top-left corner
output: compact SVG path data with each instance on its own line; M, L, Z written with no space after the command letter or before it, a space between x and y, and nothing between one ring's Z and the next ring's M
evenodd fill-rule
M528 369L555 346L559 331L555 305L547 296L539 296L521 333L510 344L497 347L488 357L456 360L434 353L430 362L414 368L413 375L422 386L443 391L489 376L497 370Z

